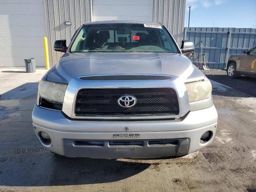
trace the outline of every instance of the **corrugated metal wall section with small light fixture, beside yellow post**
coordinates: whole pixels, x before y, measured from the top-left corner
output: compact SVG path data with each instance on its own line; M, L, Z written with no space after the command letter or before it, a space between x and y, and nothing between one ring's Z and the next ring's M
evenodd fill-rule
M62 55L53 49L55 40L66 39L68 45L76 30L91 21L91 4L90 0L44 0L44 13L52 66ZM65 25L65 21L71 21L72 25Z

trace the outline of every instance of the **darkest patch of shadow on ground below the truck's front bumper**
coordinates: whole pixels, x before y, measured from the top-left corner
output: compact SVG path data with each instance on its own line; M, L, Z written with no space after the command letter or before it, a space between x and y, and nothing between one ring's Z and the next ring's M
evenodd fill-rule
M148 163L119 160L65 158L58 155L55 158L58 164L50 180L53 186L114 182L136 175L150 166Z

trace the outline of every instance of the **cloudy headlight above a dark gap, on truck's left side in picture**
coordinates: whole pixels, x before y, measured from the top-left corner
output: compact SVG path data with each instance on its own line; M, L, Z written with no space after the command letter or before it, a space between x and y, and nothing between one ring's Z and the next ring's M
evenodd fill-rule
M62 104L67 85L41 80L38 85L38 99ZM38 102L37 102L38 103Z

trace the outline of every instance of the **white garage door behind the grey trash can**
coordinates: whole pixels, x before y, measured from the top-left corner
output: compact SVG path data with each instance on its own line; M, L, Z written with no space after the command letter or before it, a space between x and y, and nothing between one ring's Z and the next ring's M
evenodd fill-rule
M43 0L0 0L0 66L24 66L24 58L45 66L43 36Z

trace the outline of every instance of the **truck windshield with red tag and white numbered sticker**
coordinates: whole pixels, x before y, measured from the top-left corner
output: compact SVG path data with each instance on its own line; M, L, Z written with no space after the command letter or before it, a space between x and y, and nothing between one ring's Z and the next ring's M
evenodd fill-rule
M70 52L174 52L166 29L151 24L89 24L82 27Z

